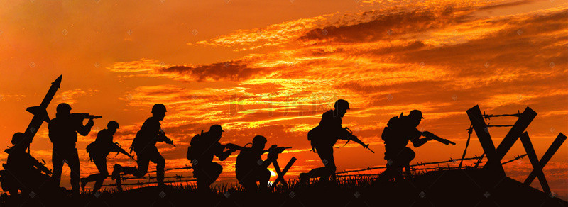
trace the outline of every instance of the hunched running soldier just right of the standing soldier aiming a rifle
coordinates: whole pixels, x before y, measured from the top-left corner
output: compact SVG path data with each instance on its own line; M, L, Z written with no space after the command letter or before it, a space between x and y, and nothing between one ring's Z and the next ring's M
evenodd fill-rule
M126 156L133 158L128 152L118 145L118 143L112 142L112 138L116 130L119 128L119 123L116 121L109 121L107 123L107 128L100 130L97 133L97 139L87 146L87 152L89 153L89 158L91 162L99 169L98 174L89 175L89 177L81 179L81 189L84 191L84 186L87 183L96 181L94 183L93 192L99 191L101 189L104 179L109 177L109 171L107 170L107 156L110 152L120 152Z

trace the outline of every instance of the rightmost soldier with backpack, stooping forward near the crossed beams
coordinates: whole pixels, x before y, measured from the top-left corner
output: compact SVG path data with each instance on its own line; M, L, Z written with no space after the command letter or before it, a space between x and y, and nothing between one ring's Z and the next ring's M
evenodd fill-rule
M378 181L386 181L391 178L397 179L397 181L403 179L401 172L403 167L407 167L415 157L415 152L406 147L408 141L413 142L414 147L420 147L424 145L427 141L432 140L431 138L422 138L422 132L416 129L416 127L422 121L422 112L418 110L410 111L408 116L400 117L395 116L391 118L383 134L382 139L385 142L385 160L387 160L387 168L385 172L378 177Z

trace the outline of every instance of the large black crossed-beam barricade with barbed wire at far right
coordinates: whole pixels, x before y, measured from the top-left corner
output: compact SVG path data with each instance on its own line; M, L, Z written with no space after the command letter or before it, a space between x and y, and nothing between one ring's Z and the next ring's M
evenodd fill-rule
M479 106L476 105L473 108L469 108L466 111L467 116L469 116L469 121L474 127L475 133L477 138L479 138L479 142L481 142L481 147L483 147L485 154L487 155L487 164L484 166L484 169L491 169L501 176L506 176L505 171L503 170L503 165L501 165L501 160L507 152L510 150L510 147L513 147L513 144L520 138L520 141L523 142L523 147L525 147L525 151L529 157L530 163L532 164L532 172L525 180L526 185L530 185L530 183L535 180L535 177L538 177L540 181L540 185L542 186L542 190L546 193L550 193L550 187L545 178L545 174L542 172L542 168L545 167L552 155L559 149L562 142L566 140L566 136L560 133L558 137L552 142L552 145L548 148L545 155L542 156L540 160L538 160L537 155L535 153L535 148L532 147L532 142L530 142L530 138L528 137L528 133L525 132L526 128L532 122L532 120L537 116L535 111L532 111L531 108L525 108L525 111L518 116L518 120L515 122L513 127L509 130L501 144L498 145L496 148L493 145L493 140L491 139L491 135L489 134L488 126L484 121L484 116L481 114L481 110Z

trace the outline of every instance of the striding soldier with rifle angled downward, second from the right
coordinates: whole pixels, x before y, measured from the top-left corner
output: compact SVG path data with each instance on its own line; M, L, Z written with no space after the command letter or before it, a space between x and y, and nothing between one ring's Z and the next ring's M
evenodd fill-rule
M308 139L312 142L312 151L322 159L325 167L310 170L309 173L300 173L300 181L304 182L310 178L320 177L320 181L327 181L329 177L335 178L335 160L333 157L333 145L337 140L354 140L355 142L368 147L356 136L342 128L342 117L349 109L349 102L339 99L335 101L334 110L329 110L322 115L320 125L310 130Z

